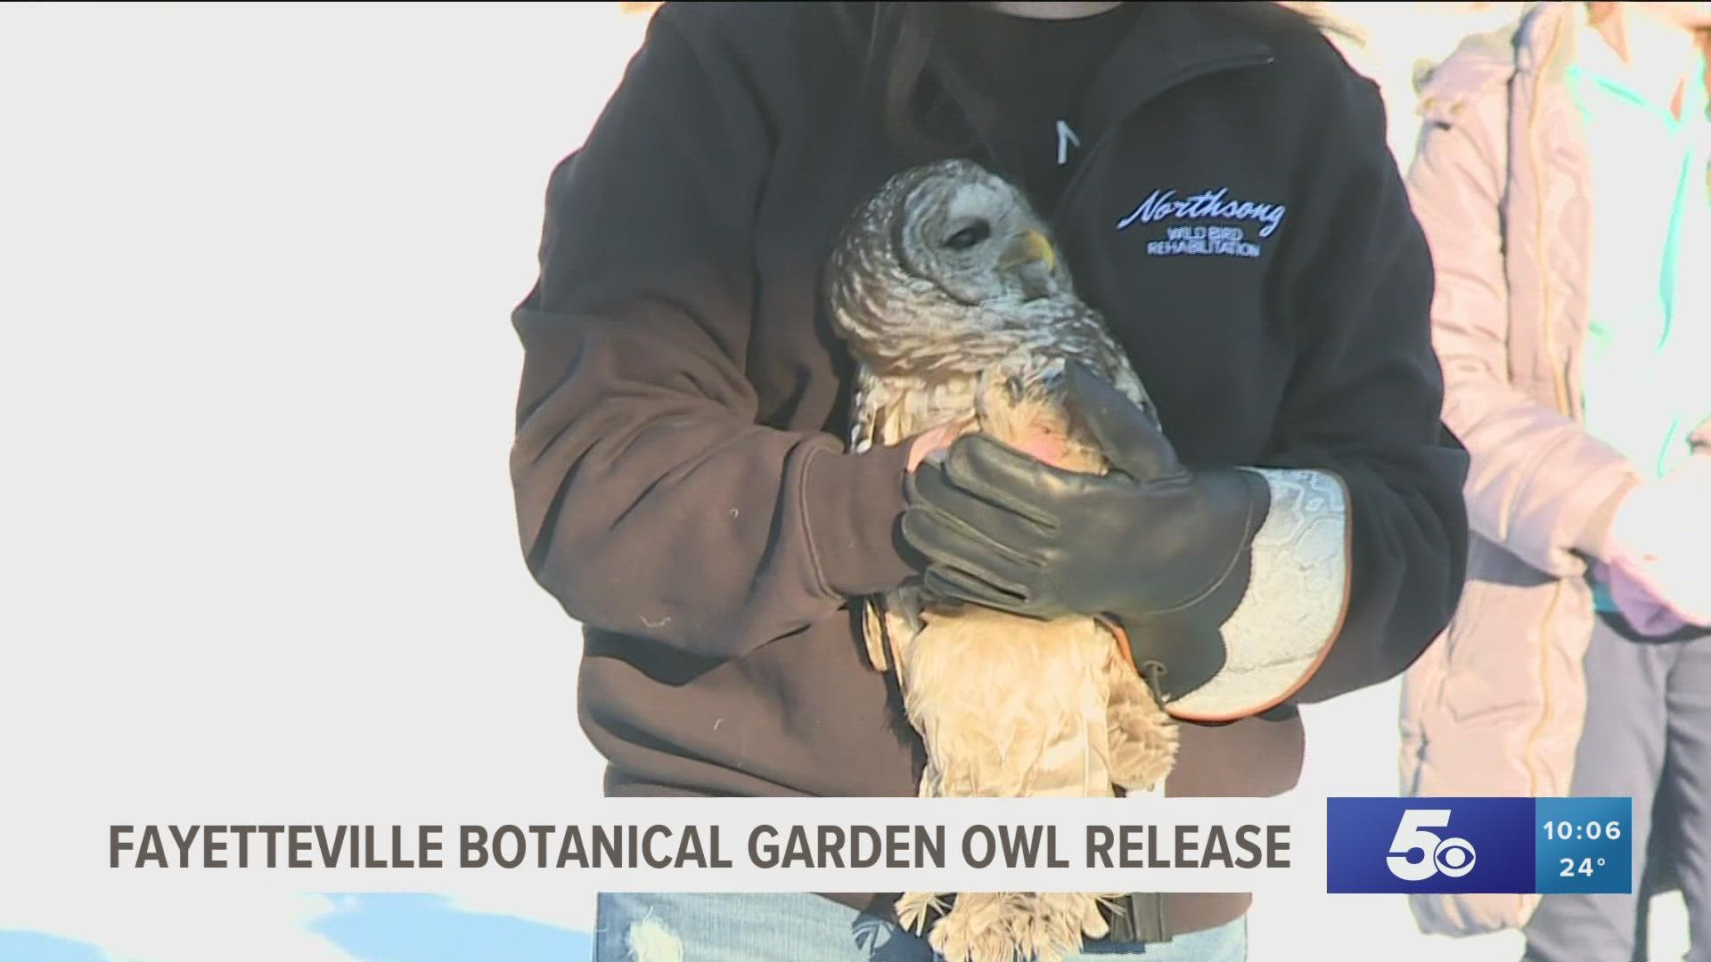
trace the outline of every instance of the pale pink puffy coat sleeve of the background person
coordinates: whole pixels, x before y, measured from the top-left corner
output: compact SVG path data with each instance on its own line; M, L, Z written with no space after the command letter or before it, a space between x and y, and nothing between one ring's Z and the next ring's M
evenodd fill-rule
M1545 406L1509 382L1506 87L1458 104L1425 125L1408 190L1437 264L1432 337L1444 421L1471 455L1470 524L1540 572L1578 577L1586 556L1601 555L1615 502L1637 474L1567 414L1571 399ZM1531 238L1518 243L1535 248Z

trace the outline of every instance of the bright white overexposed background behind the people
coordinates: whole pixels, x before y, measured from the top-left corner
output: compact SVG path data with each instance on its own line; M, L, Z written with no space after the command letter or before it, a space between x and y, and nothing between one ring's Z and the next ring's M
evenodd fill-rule
M190 805L385 823L599 794L580 638L515 537L508 315L546 176L642 27L614 3L0 5L0 851ZM1374 38L1386 77L1420 29ZM1300 791L1394 794L1394 750L1393 688L1317 709ZM0 871L0 928L340 957L301 933L317 899L60 887L86 878ZM592 923L554 894L464 904ZM1256 962L1518 953L1415 936L1398 899L1309 892L1252 931Z

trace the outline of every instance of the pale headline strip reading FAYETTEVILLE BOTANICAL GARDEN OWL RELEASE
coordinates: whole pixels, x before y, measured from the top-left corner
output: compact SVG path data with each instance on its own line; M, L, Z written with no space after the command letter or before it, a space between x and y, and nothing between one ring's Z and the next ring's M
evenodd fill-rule
M366 892L544 882L590 892L1256 892L1317 887L1324 873L1323 810L1311 801L623 798L527 808L409 822L139 811L84 839L99 844L84 858L113 878Z

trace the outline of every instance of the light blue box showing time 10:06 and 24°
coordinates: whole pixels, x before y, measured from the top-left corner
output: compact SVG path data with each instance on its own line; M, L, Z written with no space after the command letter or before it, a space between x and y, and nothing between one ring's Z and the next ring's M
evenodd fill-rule
M1632 892L1632 799L1540 798L1538 892Z

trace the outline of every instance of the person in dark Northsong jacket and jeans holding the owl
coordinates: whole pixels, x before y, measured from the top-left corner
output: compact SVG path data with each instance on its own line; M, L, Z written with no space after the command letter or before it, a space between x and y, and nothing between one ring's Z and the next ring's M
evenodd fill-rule
M1044 226L948 183L897 229L986 267L903 282L979 305L1068 265L1124 361L1093 366L1145 383L1066 375L1117 471L938 430L845 443L871 406L828 257L946 157ZM513 312L518 532L582 623L607 794L917 794L921 739L864 638L862 599L900 585L1121 625L1182 721L1165 794L1287 791L1295 705L1394 678L1459 597L1430 298L1379 92L1285 7L662 5L553 171ZM902 327L869 347L927 349ZM931 960L891 895L602 895L597 957L664 928L686 959ZM1249 902L1136 894L1098 955L1242 959Z

